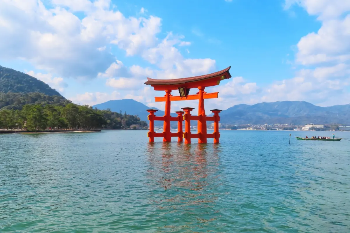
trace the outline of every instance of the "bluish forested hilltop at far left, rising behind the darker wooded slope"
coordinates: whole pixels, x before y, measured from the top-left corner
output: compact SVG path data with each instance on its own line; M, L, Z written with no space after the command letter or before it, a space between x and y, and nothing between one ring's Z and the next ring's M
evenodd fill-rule
M39 92L49 96L62 96L43 81L3 66L0 66L0 92Z

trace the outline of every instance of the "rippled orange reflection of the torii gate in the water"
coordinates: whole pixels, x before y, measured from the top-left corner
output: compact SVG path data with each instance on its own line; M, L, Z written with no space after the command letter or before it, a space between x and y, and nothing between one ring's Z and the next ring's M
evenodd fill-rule
M223 211L222 206L216 206L216 201L224 194L218 175L220 147L220 144L148 145L149 199L156 208L155 214L162 216L163 221L167 219L163 230L193 230L204 226L206 231L220 230L222 221L216 223Z

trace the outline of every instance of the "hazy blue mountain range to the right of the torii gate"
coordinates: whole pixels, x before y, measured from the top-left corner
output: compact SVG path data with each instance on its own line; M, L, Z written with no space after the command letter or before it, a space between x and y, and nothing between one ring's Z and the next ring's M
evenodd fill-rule
M319 107L305 101L238 104L221 112L226 124L332 124L350 123L350 104Z

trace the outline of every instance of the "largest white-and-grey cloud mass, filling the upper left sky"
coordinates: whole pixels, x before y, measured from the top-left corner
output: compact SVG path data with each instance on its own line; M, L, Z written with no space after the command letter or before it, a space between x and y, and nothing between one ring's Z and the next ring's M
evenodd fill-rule
M126 18L110 10L110 1L0 1L0 58L22 58L36 68L63 77L95 78L115 60L107 47L116 44L128 55L157 42L161 19ZM73 12L83 11L80 20Z

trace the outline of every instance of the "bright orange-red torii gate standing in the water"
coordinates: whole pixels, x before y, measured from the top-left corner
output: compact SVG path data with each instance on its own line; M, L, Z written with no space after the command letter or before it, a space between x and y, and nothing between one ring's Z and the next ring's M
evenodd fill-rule
M211 74L181 78L181 79L151 79L147 78L146 85L151 85L154 90L164 90L164 97L155 97L155 102L165 102L165 115L155 116L154 113L158 110L147 109L149 112L149 142L154 142L154 137L163 137L163 141L171 141L172 137L178 137L178 141L185 139L185 144L191 143L191 138L198 138L198 143L207 143L207 138L214 138L214 143L219 143L219 112L222 110L213 109L214 116L208 117L205 115L204 99L213 99L218 97L218 92L206 93L205 87L211 87L219 85L221 80L231 78L229 72L231 66L228 68ZM191 88L198 88L199 92L195 95L189 95ZM172 90L179 90L179 96L173 96L170 93ZM177 117L170 116L170 102L181 100L199 100L198 103L198 116L190 114L194 108L186 107L182 108L184 111L176 111ZM182 116L184 114L184 116ZM191 133L191 120L198 121L198 133ZM154 121L164 121L164 131L162 133L154 132ZM170 121L177 121L178 132L170 132ZM182 121L185 121L185 133L182 131ZM214 133L207 133L207 121L214 121Z

